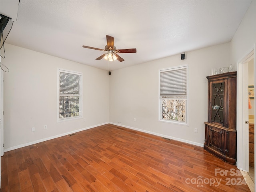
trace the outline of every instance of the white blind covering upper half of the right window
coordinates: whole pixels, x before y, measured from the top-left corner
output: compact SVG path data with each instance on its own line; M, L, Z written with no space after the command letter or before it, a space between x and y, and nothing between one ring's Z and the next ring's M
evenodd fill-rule
M186 97L187 68L160 71L160 97Z

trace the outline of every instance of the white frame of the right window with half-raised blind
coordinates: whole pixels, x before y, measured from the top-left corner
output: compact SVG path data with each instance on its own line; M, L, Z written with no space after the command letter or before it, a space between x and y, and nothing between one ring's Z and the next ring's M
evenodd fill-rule
M176 121L176 120L166 120L166 119L162 118L162 99L163 98L161 98L161 96L160 96L160 81L161 81L160 74L162 71L170 71L170 70L175 70L175 69L179 69L179 68L186 68L186 112L185 112L186 113L186 121L185 122L180 122L180 121ZM159 69L158 76L159 76L159 78L158 78L158 86L159 86L159 88L158 88L158 121L164 122L164 123L188 126L188 120L189 120L189 117L188 117L188 98L189 98L189 96L188 96L188 86L189 86L188 85L188 64ZM166 98L166 99L168 99L168 98Z

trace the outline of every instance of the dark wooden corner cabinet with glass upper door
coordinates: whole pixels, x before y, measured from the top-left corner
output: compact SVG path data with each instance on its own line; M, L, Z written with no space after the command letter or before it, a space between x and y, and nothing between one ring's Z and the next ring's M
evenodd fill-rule
M205 123L204 149L236 164L236 72L208 79L208 122Z

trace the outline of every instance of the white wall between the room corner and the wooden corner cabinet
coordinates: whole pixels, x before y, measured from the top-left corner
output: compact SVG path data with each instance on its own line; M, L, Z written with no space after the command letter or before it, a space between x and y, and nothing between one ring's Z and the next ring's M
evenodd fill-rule
M229 55L230 44L226 43L188 52L185 60L179 54L112 71L110 122L203 146L208 103L206 76L211 75L211 68L229 66ZM159 70L183 64L188 64L189 73L189 126L159 122Z

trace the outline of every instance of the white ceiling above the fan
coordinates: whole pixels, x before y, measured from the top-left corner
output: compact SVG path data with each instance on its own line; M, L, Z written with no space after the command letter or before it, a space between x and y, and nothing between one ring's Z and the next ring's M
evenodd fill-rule
M4 2L4 0L0 0ZM230 42L251 1L21 0L6 43L116 70L158 58ZM2 10L1 10L2 12ZM106 35L124 62L95 60ZM8 53L6 53L8 56ZM36 65L36 63L35 63Z

